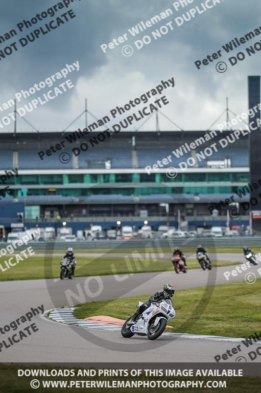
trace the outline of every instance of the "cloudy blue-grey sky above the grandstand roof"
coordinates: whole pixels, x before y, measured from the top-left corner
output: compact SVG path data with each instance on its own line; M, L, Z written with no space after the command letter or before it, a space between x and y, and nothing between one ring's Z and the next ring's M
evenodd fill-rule
M213 0L211 0L213 1ZM9 0L1 7L0 35L16 28L17 36L0 44L0 50L17 42L19 50L0 60L0 102L14 98L21 89L27 90L35 83L61 70L66 63L79 61L80 70L70 75L74 87L59 95L55 100L27 113L25 118L40 131L62 131L84 110L84 99L88 99L88 109L97 118L107 115L115 106L122 106L129 100L154 88L161 80L174 77L175 87L166 90L170 102L162 112L185 130L207 129L225 109L226 97L229 107L240 114L247 110L247 77L260 75L260 53L246 56L244 61L234 67L228 61L237 52L260 41L261 35L227 54L222 50L220 60L197 70L194 61L203 60L207 55L222 49L222 45L235 37L242 37L249 31L259 28L261 3L259 0L220 0L212 9L198 14L190 22L178 27L176 17L189 11L205 0L194 0L187 7L176 11L169 0L75 0L68 9L59 10L54 17L48 17L32 28L19 32L17 24L31 20L37 13L46 11L59 1L46 0ZM26 37L34 29L56 19L72 9L76 18L70 20L39 39L22 48L19 39ZM157 25L148 28L137 37L132 37L128 29L141 21L148 21L155 15L170 8L173 15ZM172 21L173 31L162 38L152 41L138 50L136 40L144 35L151 36L152 31ZM127 33L128 41L104 54L102 44L109 44L114 38ZM122 47L131 45L132 56L122 55ZM215 65L225 61L228 69L218 73ZM59 82L59 81L58 81ZM62 80L64 82L64 80ZM58 85L56 83L55 85ZM53 87L52 87L53 88ZM50 88L50 89L52 89ZM43 89L40 96L49 88ZM39 95L39 94L38 94ZM31 99L38 95L31 96ZM30 99L20 104L23 106ZM141 109L141 108L139 108ZM134 110L135 111L135 110ZM3 116L12 112L0 112ZM127 115L130 115L127 112ZM165 117L160 116L162 130L176 129ZM223 116L222 120L225 120ZM94 119L89 116L89 121ZM110 124L112 125L113 122ZM140 127L134 124L133 128ZM70 130L84 127L84 117L77 121ZM4 131L11 131L13 123ZM155 129L155 118L151 118L142 130ZM31 131L22 120L18 121L18 131ZM3 132L3 130L1 130Z

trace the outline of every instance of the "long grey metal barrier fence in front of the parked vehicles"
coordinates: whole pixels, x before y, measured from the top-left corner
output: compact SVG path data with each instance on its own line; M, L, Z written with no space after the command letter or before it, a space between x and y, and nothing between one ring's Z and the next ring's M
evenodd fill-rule
M86 242L50 242L37 243L30 242L34 251L48 251L48 250L66 250L68 247L73 247L74 250L99 250L99 249L142 249L142 248L172 248L172 247L196 247L201 244L204 247L259 247L261 246L261 237L252 236L237 236L237 237L195 237L195 238L169 238L169 239L133 239L133 240L97 240ZM0 243L0 249L5 248L7 243ZM17 247L17 249L24 249L24 245Z

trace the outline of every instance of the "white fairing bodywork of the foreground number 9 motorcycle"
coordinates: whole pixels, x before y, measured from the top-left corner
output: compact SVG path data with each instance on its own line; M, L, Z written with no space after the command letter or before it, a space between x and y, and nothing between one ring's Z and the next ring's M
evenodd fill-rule
M139 302L137 308L142 304L142 302ZM153 321L154 326L157 326L160 319L170 321L175 318L176 313L172 307L171 300L167 299L161 301L161 303L152 303L151 306L142 313L142 316L139 317L138 321L131 326L131 332L146 335L148 333L148 325L151 319L154 318L155 314L157 314L157 317L155 318L155 321Z

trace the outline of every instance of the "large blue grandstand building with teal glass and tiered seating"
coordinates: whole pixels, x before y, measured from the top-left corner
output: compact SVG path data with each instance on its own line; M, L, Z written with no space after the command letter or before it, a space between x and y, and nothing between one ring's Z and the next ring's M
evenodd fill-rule
M77 229L91 222L110 228L117 217L138 227L143 223L142 214L151 225L161 225L164 220L175 225L178 210L191 227L211 222L210 204L233 195L235 203L249 200L247 194L241 198L236 195L237 189L249 182L248 136L198 159L204 149L231 133L217 131L208 141L205 131L122 131L105 139L100 131L82 134L72 143L67 140L71 132L2 134L0 175L18 168L18 176L2 184L2 188L9 185L11 195L6 192L1 197L0 224L10 226L14 216L18 219L18 213L23 212L25 223L60 225L60 216L78 222ZM91 138L96 142L90 143ZM186 148L191 141L203 138L204 143ZM183 154L179 158L173 153L177 149ZM44 158L39 152L45 153ZM194 165L184 170L181 162ZM146 167L155 164L159 168L148 174ZM177 169L177 175L166 173L170 167ZM168 205L167 213L164 204ZM12 217L8 217L10 211ZM227 209L216 214L216 225L224 225ZM237 222L247 225L248 213L242 210L242 214Z

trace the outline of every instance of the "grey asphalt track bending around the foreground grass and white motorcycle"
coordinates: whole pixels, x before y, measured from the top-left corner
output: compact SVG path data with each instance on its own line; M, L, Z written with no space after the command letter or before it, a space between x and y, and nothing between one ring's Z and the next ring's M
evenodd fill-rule
M228 254L219 254L219 256L228 259ZM239 255L234 256L235 260L240 260ZM0 326L10 324L28 312L31 307L36 308L43 304L45 310L48 310L79 303L74 298L70 301L65 300L68 299L65 297L65 292L68 293L68 290L78 293L81 288L84 288L85 301L96 301L150 294L159 289L164 282L173 282L177 290L175 296L178 296L179 289L243 281L246 273L250 272L255 273L257 278L261 276L258 272L259 266L255 266L238 273L236 277L230 276L230 281L227 281L224 272L231 272L234 269L235 266L213 268L212 271L205 272L201 269L194 269L186 275L163 272L102 276L97 279L102 282L102 290L95 297L88 296L89 293L97 292L95 278L76 277L73 280L64 281L57 279L3 281L0 282ZM245 283L245 285L248 284ZM173 304L175 308L175 298ZM130 310L130 314L134 311L135 305ZM178 314L176 317L178 318ZM155 341L138 336L126 339L121 337L119 332L71 328L68 325L47 320L40 315L35 316L30 323L33 322L39 330L10 348L2 348L0 362L58 362L60 364L68 362L215 362L214 356L222 355L238 345L238 343L227 341L173 339L171 337L160 337ZM28 325L29 322L26 322L18 330ZM193 333L193 331L188 333ZM12 331L5 334L6 338L11 334L13 334ZM0 341L5 335L0 335ZM230 336L229 332L227 336ZM253 344L251 349L247 349L241 344L241 351L229 357L226 363L235 362L238 356L244 356L249 361L247 353L257 346L258 344ZM259 358L258 356L256 361L259 361Z

